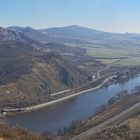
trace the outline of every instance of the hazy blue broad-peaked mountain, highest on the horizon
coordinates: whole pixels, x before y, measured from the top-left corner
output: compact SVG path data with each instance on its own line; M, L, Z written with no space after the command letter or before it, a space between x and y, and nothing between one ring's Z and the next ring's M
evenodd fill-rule
M92 39L98 39L99 37L104 37L104 36L108 37L112 35L112 33L93 30L77 25L41 29L39 31L54 37L74 38L74 39L86 40L86 41L90 41Z

